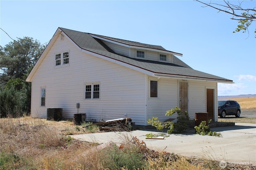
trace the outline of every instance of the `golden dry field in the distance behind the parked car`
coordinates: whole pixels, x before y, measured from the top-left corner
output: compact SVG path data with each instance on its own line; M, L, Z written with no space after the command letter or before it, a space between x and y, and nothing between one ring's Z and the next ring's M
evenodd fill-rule
M256 97L253 98L228 98L220 100L235 100L240 104L241 109L256 109Z

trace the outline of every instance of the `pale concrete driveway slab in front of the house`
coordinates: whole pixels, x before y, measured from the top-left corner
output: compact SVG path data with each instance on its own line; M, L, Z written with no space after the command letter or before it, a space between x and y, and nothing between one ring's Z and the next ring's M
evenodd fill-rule
M148 133L159 133L154 129L70 136L100 144L108 142L120 144L136 136L152 150L165 150L182 156L198 156L232 164L256 165L256 124L235 123L235 126L212 127L211 131L220 132L222 137L196 135L194 129L184 134L171 134L164 139L146 139L145 135Z

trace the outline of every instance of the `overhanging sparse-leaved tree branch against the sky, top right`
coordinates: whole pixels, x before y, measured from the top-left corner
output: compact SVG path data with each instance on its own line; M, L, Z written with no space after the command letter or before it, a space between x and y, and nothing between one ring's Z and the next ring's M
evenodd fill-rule
M250 8L242 7L242 3L244 1L237 1L237 4L234 4L234 1L232 1L232 4L228 0L223 0L224 3L222 4L216 4L212 3L211 1L209 3L202 2L200 0L195 0L197 2L200 2L206 6L210 6L211 8L214 8L218 10L219 12L225 12L227 14L232 15L231 20L237 20L239 25L233 32L239 32L242 31L248 32L249 26L252 24L253 21L256 21L256 7L251 6ZM255 6L255 1L250 0L246 2L251 2ZM256 28L254 33L256 33Z

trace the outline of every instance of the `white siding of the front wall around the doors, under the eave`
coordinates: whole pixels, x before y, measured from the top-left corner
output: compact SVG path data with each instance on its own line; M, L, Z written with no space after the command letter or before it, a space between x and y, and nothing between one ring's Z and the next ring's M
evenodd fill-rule
M149 78L150 79L150 78ZM154 80L154 79L153 79ZM178 106L178 80L160 78L159 98L147 101L147 119L158 117L160 121L169 118L176 119L177 115L165 116L167 110ZM190 119L194 119L196 112L206 112L206 88L217 89L215 82L188 81L188 114ZM150 87L149 87L150 89ZM150 92L148 92L149 96ZM214 98L216 99L216 94ZM215 100L215 115L218 114L217 101Z

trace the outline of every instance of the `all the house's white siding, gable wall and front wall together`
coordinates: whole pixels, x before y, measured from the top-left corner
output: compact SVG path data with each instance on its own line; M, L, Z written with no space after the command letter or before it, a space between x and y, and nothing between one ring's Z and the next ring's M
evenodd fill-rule
M126 53L126 47L118 47L118 53ZM113 47L114 48L114 47ZM125 49L126 48L126 49ZM67 66L55 67L54 54L69 51L70 62ZM122 52L123 51L123 52ZM135 49L128 55L135 57ZM146 51L151 60L158 53ZM168 56L170 59L170 55ZM149 98L150 79L158 80L158 98ZM100 83L100 99L85 100L84 84ZM40 87L46 88L46 106L40 107ZM206 111L206 88L217 91L217 83L188 81L188 113L194 119L195 112ZM215 105L217 103L215 94ZM76 108L80 103L80 108ZM153 78L146 74L126 68L116 63L81 52L67 38L60 37L49 50L42 64L32 77L32 117L46 117L47 108L63 108L64 118L73 118L74 113L86 113L87 121L100 121L132 118L136 125L148 125L152 116L160 121L169 118L167 110L178 106L178 80L172 78ZM217 105L215 106L215 114Z

